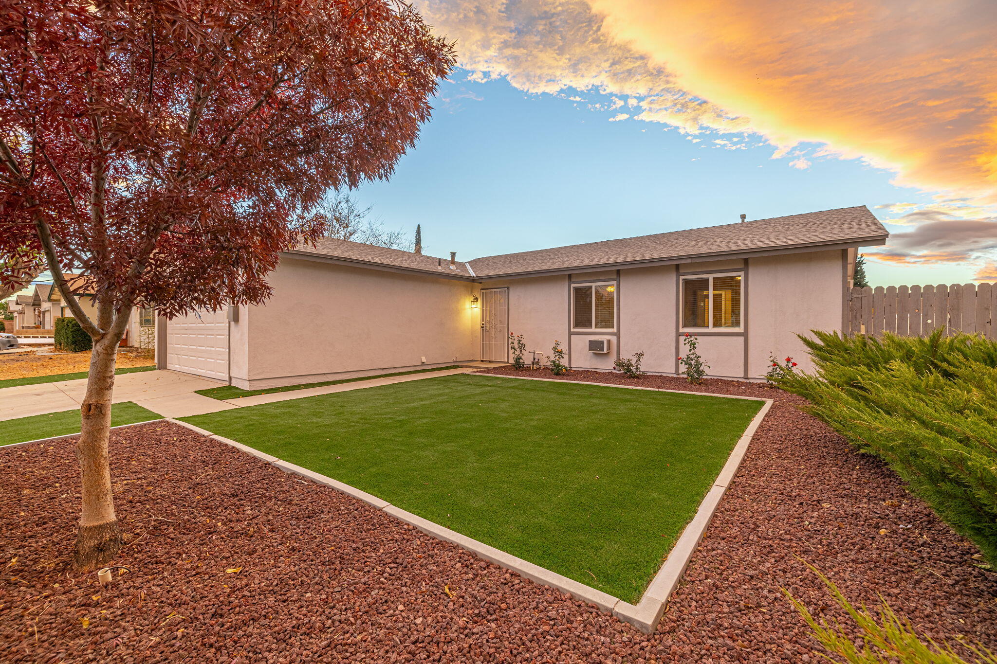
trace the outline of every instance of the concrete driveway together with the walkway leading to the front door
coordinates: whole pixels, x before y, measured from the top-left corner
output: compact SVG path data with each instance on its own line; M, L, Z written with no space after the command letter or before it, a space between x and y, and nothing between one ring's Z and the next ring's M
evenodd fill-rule
M317 394L347 392L365 387L391 385L398 382L435 378L474 370L476 367L426 371L425 373L410 373L391 378L371 378L370 380L356 380L338 385L326 385L325 387L244 396L223 401L195 393L195 390L198 389L225 384L217 380L209 380L179 371L140 371L138 373L124 373L115 377L115 394L112 400L114 403L134 401L143 408L148 408L164 417L187 417L219 410L255 406L261 403L301 399ZM79 408L86 390L86 378L2 388L0 389L0 421Z

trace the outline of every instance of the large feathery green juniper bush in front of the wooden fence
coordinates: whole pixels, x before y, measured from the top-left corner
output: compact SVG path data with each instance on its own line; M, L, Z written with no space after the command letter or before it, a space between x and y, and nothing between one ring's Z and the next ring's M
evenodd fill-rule
M971 334L801 336L816 375L777 382L877 455L997 562L997 341Z

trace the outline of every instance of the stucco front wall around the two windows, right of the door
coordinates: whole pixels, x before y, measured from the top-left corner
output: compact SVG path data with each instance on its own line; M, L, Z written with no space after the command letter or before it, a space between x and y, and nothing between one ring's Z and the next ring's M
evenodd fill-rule
M571 366L597 369L612 368L617 347L624 357L643 350L644 370L675 373L684 334L677 318L678 275L744 271L746 330L697 332L699 351L710 365L710 375L760 378L767 370L770 349L781 357L793 355L802 367L810 368L796 332L840 329L843 270L840 250L624 269L617 290L618 334L572 334L568 320L570 283L608 281L615 279L615 272L496 280L484 287L509 289L510 330L524 335L527 349L549 354L557 338L569 344ZM592 337L609 337L612 351L588 352L587 340Z

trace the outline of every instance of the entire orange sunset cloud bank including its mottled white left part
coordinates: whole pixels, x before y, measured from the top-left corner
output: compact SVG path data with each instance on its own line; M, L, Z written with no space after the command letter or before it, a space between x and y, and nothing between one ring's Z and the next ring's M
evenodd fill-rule
M596 90L637 119L755 132L778 154L824 143L897 184L997 203L992 0L417 4L472 78Z

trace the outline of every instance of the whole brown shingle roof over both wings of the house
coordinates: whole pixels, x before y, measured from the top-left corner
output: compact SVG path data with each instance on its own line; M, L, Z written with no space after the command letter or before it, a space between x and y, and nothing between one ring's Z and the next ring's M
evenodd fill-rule
M621 240L487 256L467 263L458 262L454 270L450 269L450 259L333 238L321 239L314 247L300 247L291 253L328 256L360 264L386 265L435 275L474 278L857 242L885 238L887 235L886 229L868 208L859 205Z

